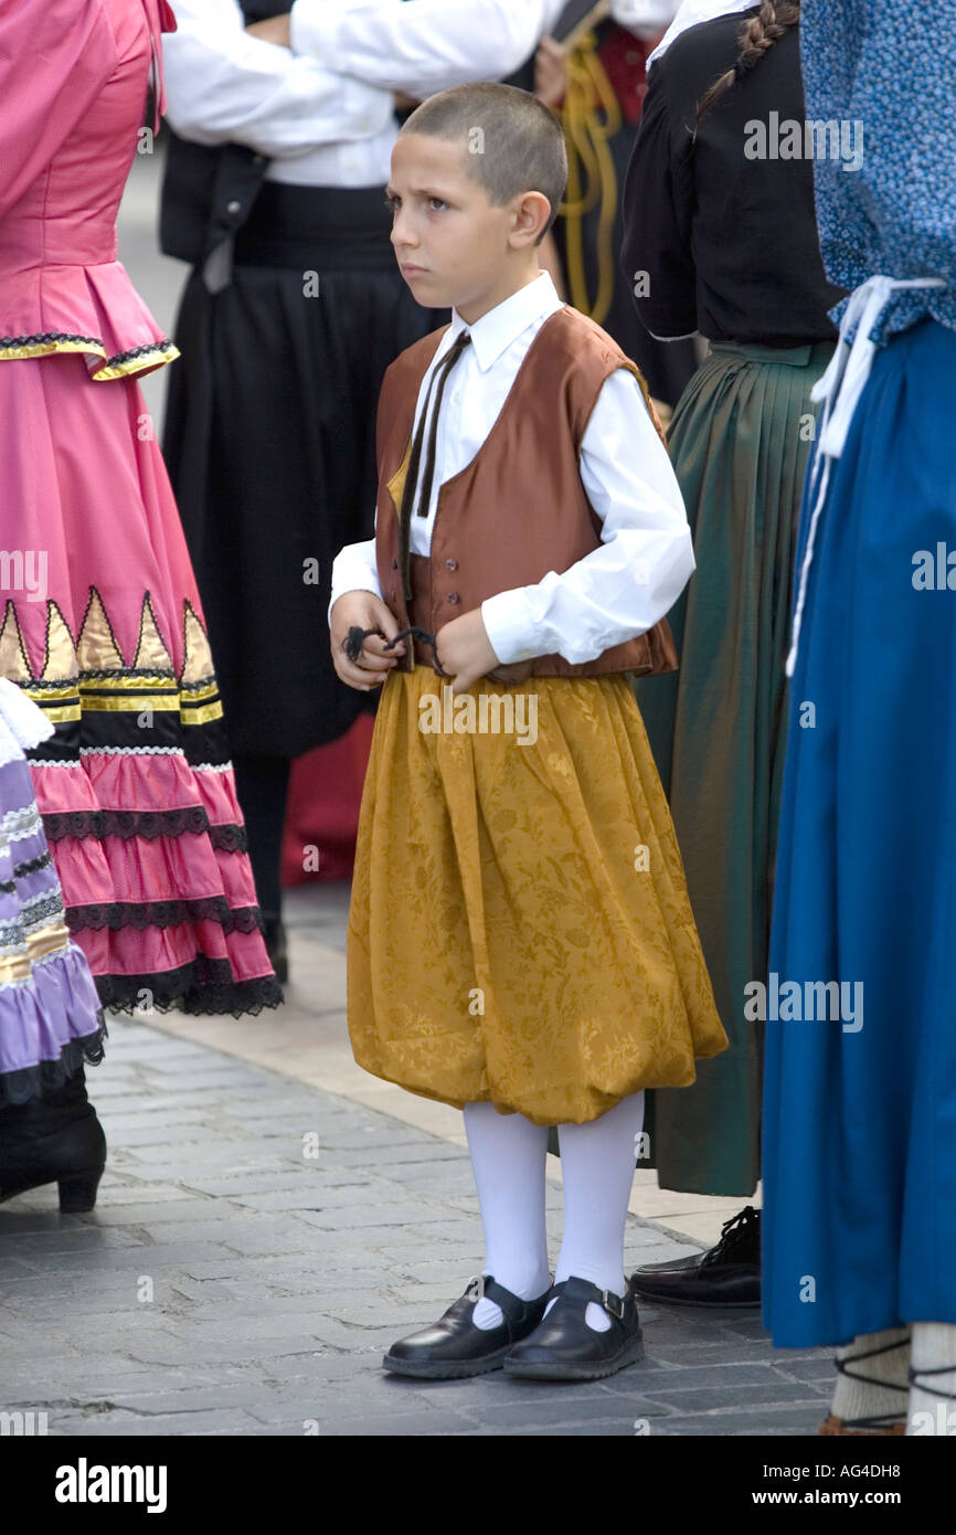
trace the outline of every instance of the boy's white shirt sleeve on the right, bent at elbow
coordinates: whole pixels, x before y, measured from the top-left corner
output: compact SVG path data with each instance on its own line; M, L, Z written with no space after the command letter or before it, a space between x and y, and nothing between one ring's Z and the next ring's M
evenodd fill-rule
M602 546L532 586L482 603L502 665L557 652L595 660L651 629L694 573L694 545L668 450L632 373L605 382L580 451L585 491L602 519Z

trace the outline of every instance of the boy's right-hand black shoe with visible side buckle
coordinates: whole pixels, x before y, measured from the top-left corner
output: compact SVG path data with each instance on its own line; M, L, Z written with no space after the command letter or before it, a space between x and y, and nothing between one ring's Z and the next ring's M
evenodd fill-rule
M542 1325L505 1358L506 1375L522 1375L526 1380L602 1380L644 1357L631 1285L621 1299L609 1289L598 1289L589 1279L572 1274L551 1288L545 1303L552 1296L557 1296L557 1302ZM611 1317L606 1332L595 1332L588 1326L585 1315L591 1302L603 1306Z

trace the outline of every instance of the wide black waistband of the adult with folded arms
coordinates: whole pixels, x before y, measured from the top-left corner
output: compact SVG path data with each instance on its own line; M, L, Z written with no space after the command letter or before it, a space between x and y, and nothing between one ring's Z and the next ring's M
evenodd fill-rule
M384 187L299 187L264 181L236 233L239 266L298 272L397 272Z

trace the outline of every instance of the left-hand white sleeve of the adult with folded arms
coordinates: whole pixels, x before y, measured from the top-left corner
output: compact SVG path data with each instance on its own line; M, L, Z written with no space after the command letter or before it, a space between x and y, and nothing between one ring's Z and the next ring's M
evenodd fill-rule
M176 0L163 38L166 117L198 144L247 144L273 160L371 138L393 120L390 91L250 37L236 0Z

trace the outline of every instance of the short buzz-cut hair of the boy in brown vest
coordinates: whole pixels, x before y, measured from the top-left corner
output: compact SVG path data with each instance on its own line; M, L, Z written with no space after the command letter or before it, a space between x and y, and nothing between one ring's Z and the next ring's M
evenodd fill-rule
M402 124L402 134L460 141L465 169L496 207L519 192L542 192L554 220L568 186L565 134L554 112L516 86L480 81L428 97Z

